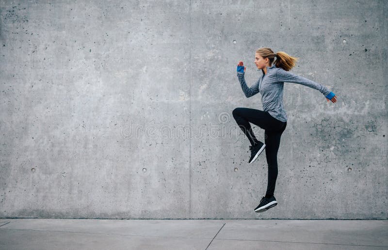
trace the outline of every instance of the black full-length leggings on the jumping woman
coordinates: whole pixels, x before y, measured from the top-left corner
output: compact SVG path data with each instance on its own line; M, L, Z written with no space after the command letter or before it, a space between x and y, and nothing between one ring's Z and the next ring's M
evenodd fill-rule
M264 129L265 155L268 163L268 186L266 197L274 195L277 178L277 151L280 145L280 137L286 129L287 122L282 122L271 116L267 111L248 108L236 108L233 110L233 117L252 145L258 140L253 134L249 123L258 125Z

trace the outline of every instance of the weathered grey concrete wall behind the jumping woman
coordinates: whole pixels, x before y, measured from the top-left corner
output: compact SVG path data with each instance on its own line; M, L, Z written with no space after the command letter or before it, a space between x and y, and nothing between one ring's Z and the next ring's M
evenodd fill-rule
M387 219L387 1L1 1L1 218ZM235 42L234 42L235 41ZM299 57L275 197L236 65ZM264 131L254 126L259 139Z

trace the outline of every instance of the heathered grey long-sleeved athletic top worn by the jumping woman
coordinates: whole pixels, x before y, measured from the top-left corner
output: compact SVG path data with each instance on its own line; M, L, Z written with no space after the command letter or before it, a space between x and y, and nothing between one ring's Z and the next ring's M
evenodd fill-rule
M246 85L244 78L245 73L237 72L237 77L239 78L242 91L246 97L251 97L252 95L260 92L263 111L268 111L270 115L282 122L287 121L286 110L283 108L284 82L293 82L305 85L319 90L319 92L321 92L324 96L330 93L330 90L325 86L307 78L295 75L282 68L277 68L275 64L271 67L267 66L267 74L264 74L263 70L262 72L263 75L250 88Z

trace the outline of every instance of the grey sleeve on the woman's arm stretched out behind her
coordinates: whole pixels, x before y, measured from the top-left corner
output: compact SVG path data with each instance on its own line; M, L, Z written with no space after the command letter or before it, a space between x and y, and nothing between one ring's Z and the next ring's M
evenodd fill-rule
M282 68L277 69L276 80L278 80L279 82L292 82L292 83L302 84L302 85L305 85L307 87L318 90L319 92L321 92L325 96L330 94L330 90L327 87L325 87L325 86L323 86L315 81L312 81L310 79L295 75L295 74L293 74L287 70L284 70Z

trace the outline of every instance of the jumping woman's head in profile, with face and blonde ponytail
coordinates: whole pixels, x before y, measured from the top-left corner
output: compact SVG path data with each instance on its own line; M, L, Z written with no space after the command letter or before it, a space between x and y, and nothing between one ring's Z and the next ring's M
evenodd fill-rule
M276 56L276 62L275 66L277 68L283 68L284 70L289 71L292 67L295 66L296 61L298 60L297 57L291 57L289 54L279 51L275 53L271 48L269 47L261 47L258 50L256 50L255 54L255 64L258 67L258 69L263 69L265 67L271 67L272 63L275 61Z

